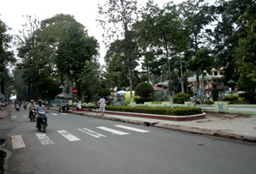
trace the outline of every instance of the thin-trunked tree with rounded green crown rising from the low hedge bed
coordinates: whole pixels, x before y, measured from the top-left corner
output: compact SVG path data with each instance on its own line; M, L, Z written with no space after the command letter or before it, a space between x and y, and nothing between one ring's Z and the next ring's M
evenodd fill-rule
M141 11L141 21L134 26L139 33L143 47L157 47L165 51L168 66L168 79L171 108L172 81L170 57L184 51L188 42L189 23L180 18L175 5L167 3L163 8L158 7L153 1L147 2Z

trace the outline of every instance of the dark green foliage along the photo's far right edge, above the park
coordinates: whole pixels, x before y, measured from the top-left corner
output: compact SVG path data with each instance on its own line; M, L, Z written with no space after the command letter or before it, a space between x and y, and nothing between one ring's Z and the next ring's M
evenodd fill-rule
M238 89L254 91L256 89L256 3L251 1L246 11L240 16L245 23L240 33L239 46L236 49L236 64L239 66L241 76L238 80Z

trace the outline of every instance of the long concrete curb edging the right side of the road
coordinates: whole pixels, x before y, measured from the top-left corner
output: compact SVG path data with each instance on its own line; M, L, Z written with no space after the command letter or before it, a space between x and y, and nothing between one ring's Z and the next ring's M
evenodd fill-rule
M50 109L59 110L59 108L56 108L56 109L50 108ZM184 126L184 125L163 124L163 123L154 122L154 121L134 121L130 119L116 118L116 117L109 117L109 116L102 117L101 115L95 116L94 114L90 114L89 112L74 112L74 111L71 111L71 112L75 114L87 116L87 117L96 117L96 118L101 118L101 119L106 119L111 121L120 121L120 122L132 123L136 125L154 126L154 127L163 128L163 129L174 129L174 130L189 132L193 134L206 134L206 135L215 136L219 138L229 138L229 139L239 140L243 142L256 142L256 137L244 136L241 134L232 134L224 130L202 129L197 127Z

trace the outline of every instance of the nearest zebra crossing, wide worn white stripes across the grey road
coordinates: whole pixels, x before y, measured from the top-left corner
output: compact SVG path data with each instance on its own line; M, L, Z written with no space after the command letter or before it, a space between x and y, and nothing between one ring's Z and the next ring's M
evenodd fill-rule
M130 130L130 131L134 131L134 132L138 132L138 133L142 133L142 134L150 132L150 130L138 129L138 128L134 128L134 127L126 126L126 125L114 125L114 126L119 129L126 129L126 130ZM87 128L77 128L77 131L78 130L79 130L79 132L88 134L89 136L91 136L93 138L106 138L107 136L109 136L110 133L111 133L111 135L114 135L114 136L130 134L128 132L124 132L125 130L120 131L120 130L112 129L112 128L105 127L105 126L98 126L98 127L95 127L95 129L93 129L93 130L87 129ZM101 131L104 133L98 133L98 131ZM57 130L56 132L59 133L59 135L61 135L63 138L67 139L69 142L82 141L82 139L76 137L73 134L70 134L69 132L67 132L67 130L61 129L61 130ZM35 135L36 135L37 139L39 140L39 142L41 142L41 145L53 145L54 144L54 141L51 140L47 136L47 133L46 134L45 133L36 133ZM21 135L11 136L11 142L12 142L13 149L20 149L20 148L26 147L25 142Z

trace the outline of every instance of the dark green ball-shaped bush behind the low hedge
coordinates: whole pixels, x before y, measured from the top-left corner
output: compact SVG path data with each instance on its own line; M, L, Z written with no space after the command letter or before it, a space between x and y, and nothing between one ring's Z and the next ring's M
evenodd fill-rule
M141 97L140 99L136 100L139 103L152 101L154 96L154 88L150 83L139 83L136 87L135 95L139 95Z

